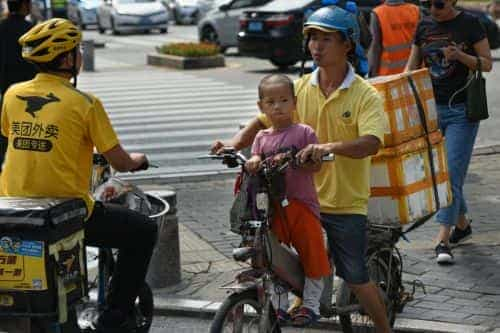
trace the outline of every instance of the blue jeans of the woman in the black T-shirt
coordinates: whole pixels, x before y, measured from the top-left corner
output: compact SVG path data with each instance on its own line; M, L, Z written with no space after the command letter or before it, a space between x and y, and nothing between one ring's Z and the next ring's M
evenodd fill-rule
M436 215L438 223L454 226L458 216L467 213L467 204L463 193L465 176L472 157L479 122L471 122L465 114L465 104L437 105L439 127L446 137L448 170L450 173L452 203L442 208Z

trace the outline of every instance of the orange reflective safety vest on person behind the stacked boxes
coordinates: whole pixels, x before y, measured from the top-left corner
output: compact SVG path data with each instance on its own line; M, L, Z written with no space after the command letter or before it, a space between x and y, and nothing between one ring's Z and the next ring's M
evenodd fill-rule
M387 0L375 7L370 18L370 77L404 71L419 20L418 6L404 0Z

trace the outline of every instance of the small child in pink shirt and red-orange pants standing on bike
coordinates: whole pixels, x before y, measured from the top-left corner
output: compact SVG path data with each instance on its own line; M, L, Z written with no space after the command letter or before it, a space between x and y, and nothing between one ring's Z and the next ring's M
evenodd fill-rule
M272 74L259 84L258 106L272 123L261 130L252 146L252 157L245 167L256 173L263 158L275 156L284 148L300 150L308 144L318 143L311 127L293 121L296 99L293 82L285 75ZM308 326L319 318L319 299L323 290L322 278L330 274L330 264L319 220L319 202L313 182L313 173L321 163L305 163L286 170L286 198L278 205L273 216L272 231L280 242L292 245L298 252L306 275L302 307L287 313L288 295L273 297L281 323L292 321L294 326ZM276 304L277 303L277 304Z

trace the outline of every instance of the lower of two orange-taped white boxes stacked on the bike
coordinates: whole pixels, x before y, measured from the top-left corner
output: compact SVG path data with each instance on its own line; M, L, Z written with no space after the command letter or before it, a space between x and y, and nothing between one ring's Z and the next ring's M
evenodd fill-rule
M445 139L429 135L439 203L451 203ZM378 224L408 224L436 211L428 143L421 137L382 149L372 158L368 219Z

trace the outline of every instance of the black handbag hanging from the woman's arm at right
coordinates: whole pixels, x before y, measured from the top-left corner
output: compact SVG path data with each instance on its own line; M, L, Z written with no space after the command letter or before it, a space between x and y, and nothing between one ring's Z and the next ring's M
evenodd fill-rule
M477 59L477 69L472 72L467 85L466 113L470 121L480 121L488 119L488 102L486 99L486 80L481 71L481 58Z

